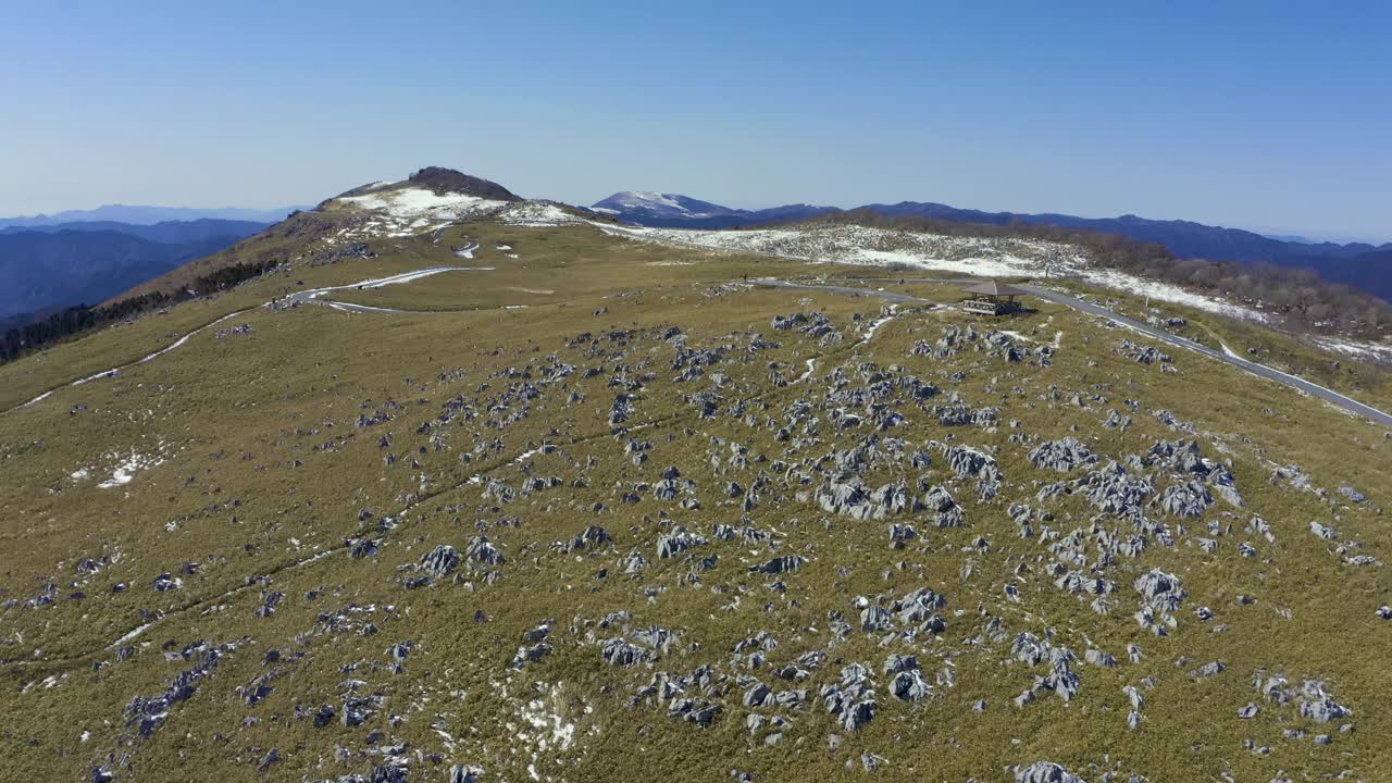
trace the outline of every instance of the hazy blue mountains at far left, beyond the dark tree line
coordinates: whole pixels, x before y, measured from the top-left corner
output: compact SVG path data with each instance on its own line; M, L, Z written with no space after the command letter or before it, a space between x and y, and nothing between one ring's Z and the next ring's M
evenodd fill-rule
M110 220L0 228L0 332L95 305L266 228L264 222Z

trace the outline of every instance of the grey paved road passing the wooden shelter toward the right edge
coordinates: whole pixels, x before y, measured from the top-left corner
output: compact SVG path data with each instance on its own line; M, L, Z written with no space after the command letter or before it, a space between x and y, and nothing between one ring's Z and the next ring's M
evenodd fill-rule
M878 281L878 280L876 280L876 281ZM908 280L906 279L906 281L949 283L952 280L938 280L938 279L931 279L931 280L928 280L928 279ZM760 280L750 280L750 283L753 283L756 286L771 287L771 288L795 288L795 290L809 290L809 291L831 291L834 294L848 294L848 295L859 295L859 297L877 297L877 298L881 298L884 301L895 302L895 304L908 304L908 302L935 304L935 302L933 302L930 300L924 300L924 298L920 298L920 297L910 297L908 294L902 294L902 293L898 293L898 291L880 291L880 290L874 290L874 288L857 288L857 287L853 287L853 286L830 286L830 284L828 286L812 286L812 284L803 284L803 283L788 283L786 280L774 280L774 279L767 279L767 277L766 279L760 279ZM1041 300L1045 300L1045 301L1050 301L1050 302L1054 302L1054 304L1069 307L1069 308L1073 308L1073 309L1080 311L1080 312L1086 312L1086 313L1091 313L1091 315L1098 315L1098 316L1105 318L1105 319L1108 319L1108 320L1111 320L1111 322L1114 322L1114 323L1116 323L1119 326L1125 326L1126 329L1132 329L1134 332L1139 332L1139 333L1141 333L1141 334L1144 334L1144 336L1147 336L1147 337L1150 337L1153 340L1160 340L1161 343L1166 343L1166 344L1175 346L1178 348L1185 348L1185 350L1193 351L1196 354L1203 354L1203 355L1214 359L1214 361L1218 361L1218 362L1222 362L1222 364L1226 364L1226 365L1232 365L1232 366L1236 366L1239 369L1244 369L1244 371L1247 371L1247 372L1250 372L1250 373L1253 373L1256 376L1265 378L1268 380L1275 380L1276 383L1283 383L1285 386L1289 386L1289 387L1292 387L1292 389L1295 389L1297 392L1303 392L1306 394L1310 394L1311 397L1317 397L1320 400L1324 400L1325 403L1329 403L1331 405L1334 405L1334 407L1336 407L1336 408L1339 408L1342 411L1347 411L1350 414L1360 415L1360 417L1363 417L1363 418L1366 418L1368 421L1373 421L1374 424L1378 424L1381 426L1392 428L1392 415L1388 415L1388 414L1385 414L1385 412L1382 412L1382 411L1379 411L1379 410L1377 410L1377 408L1374 408L1371 405L1366 405L1366 404L1363 404L1363 403L1360 403L1360 401L1357 401L1357 400L1354 400L1352 397L1345 397L1343 394L1339 394L1338 392L1334 392L1332 389L1325 389L1324 386L1320 386L1317 383L1310 383L1308 380L1306 380L1303 378L1299 378L1299 376L1295 376L1295 375L1290 375L1290 373L1286 373L1286 372L1281 372L1279 369L1270 368L1270 366L1263 365L1263 364L1247 361L1247 359L1244 359L1242 357L1235 357L1235 355L1225 354L1222 351L1215 351L1212 348L1208 348L1205 346L1194 343L1193 340L1187 340L1185 337L1179 337L1176 334L1171 334L1169 332L1165 332L1164 329L1157 329L1154 326L1150 326L1148 323L1141 323L1139 320L1126 318L1125 315L1118 315L1116 312L1112 312L1112 311L1109 311L1109 309L1107 309L1104 307L1094 305L1091 302L1084 302L1083 300L1079 300L1077 297L1072 297L1069 294L1062 294L1059 291L1052 291L1050 288L1041 288L1038 286L1027 286L1027 284L1023 284L1023 283L1015 283L1015 286L1019 287L1019 288L1023 288L1023 290L1029 291L1030 295L1038 297Z

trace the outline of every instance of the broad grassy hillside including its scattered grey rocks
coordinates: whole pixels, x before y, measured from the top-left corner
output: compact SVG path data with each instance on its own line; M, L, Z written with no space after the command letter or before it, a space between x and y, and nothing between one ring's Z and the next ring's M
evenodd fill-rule
M277 241L301 261L0 368L0 777L1392 762L1366 421L1048 304L745 283L863 269L587 226ZM259 307L437 266L470 269Z

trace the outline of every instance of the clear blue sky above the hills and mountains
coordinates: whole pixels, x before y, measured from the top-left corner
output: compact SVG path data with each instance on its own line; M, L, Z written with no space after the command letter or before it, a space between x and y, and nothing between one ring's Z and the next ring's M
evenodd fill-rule
M212 6L0 13L0 215L305 203L443 164L572 203L1392 240L1386 3Z

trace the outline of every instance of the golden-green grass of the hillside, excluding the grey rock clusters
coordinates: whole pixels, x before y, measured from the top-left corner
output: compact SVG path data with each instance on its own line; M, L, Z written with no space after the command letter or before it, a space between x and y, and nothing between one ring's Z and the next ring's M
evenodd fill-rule
M479 241L476 258L457 259L451 244ZM6 408L63 382L138 359L228 312L256 305L292 290L348 284L401 270L458 263L496 266L493 272L444 273L415 283L376 290L335 293L334 300L381 308L438 312L409 315L347 313L319 305L290 311L252 309L226 323L249 325L246 334L217 339L212 330L180 348L118 378L58 389L39 404L0 415L0 598L22 602L46 581L61 589L52 607L4 610L0 669L8 716L0 731L0 777L11 780L84 779L107 754L131 754L131 768L118 780L185 780L189 770L216 770L221 780L299 780L365 773L380 763L365 741L383 731L391 743L420 748L426 757L411 780L444 780L450 763L476 763L484 780L522 780L533 765L553 780L642 780L654 773L685 780L725 780L741 769L764 780L860 780L860 754L887 759L876 770L885 780L1006 780L1004 768L1050 758L1077 770L1116 769L1151 780L1207 780L1231 773L1237 780L1267 780L1276 769L1310 777L1353 769L1374 780L1392 762L1384 738L1392 736L1392 687L1385 651L1392 624L1373 616L1386 603L1392 581L1385 568L1349 567L1327 543L1308 532L1311 520L1335 524L1343 538L1356 538L1382 560L1392 557L1392 536L1381 509L1392 500L1392 458L1384 432L1302 397L1279 385L1235 368L1183 352L1175 354L1178 375L1137 365L1114 352L1122 334L1094 318L1041 305L1037 312L988 325L1052 344L1062 332L1052 365L1008 365L976 352L949 358L912 357L916 340L933 343L948 325L969 316L951 311L903 308L873 339L860 341L855 315L878 316L869 298L732 286L745 276L795 276L806 265L739 256L706 256L697 251L622 242L592 228L521 230L486 223L452 228L438 244L426 240L393 242L373 261L355 259L295 269L248 283L235 291L171 308L134 323L109 329L0 368ZM519 258L496 251L508 244ZM917 286L924 298L951 301L951 287ZM551 291L551 293L537 293ZM511 305L528 305L512 308ZM820 311L842 329L846 340L820 346L795 333L773 332L777 313ZM1200 319L1222 330L1240 350L1242 332ZM688 346L711 347L757 332L780 343L750 361L725 361L731 375L727 397L741 397L777 415L799 397L821 394L825 373L862 362L899 365L924 380L956 392L973 405L999 405L997 431L944 428L927 411L905 408L908 425L892 435L910 443L928 439L991 449L1011 485L1001 500L976 502L963 485L955 489L967 509L965 528L935 529L919 522L924 539L902 552L887 549L887 522L832 518L781 489L777 502L749 513L749 524L777 532L782 553L800 553L807 566L781 578L784 591L748 567L770 553L757 546L711 542L699 555L717 555L715 566L692 581L688 561L658 560L654 542L670 513L679 524L709 534L713 522L735 522L735 502L721 499L717 483L727 478L703 467L711 439L739 443L752 454L796 463L848 447L864 433L824 428L817 449L784 457L786 444L763 426L721 417L699 419L685 396L709 383L678 385L668 368L674 348L661 334L681 327ZM580 333L633 332L631 344L611 344L592 355L587 346L568 346ZM734 337L732 337L734 336ZM1134 339L1134 336L1128 334ZM1281 337L1265 337L1283 346ZM1253 343L1256 344L1256 343ZM1295 348L1289 348L1295 351ZM619 358L615 354L622 352ZM418 433L451 398L483 400L500 393L508 368L540 366L547 357L580 369L561 387L547 389L532 403L530 415L504 429L457 422L445 431L448 449L434 450ZM1293 354L1295 355L1295 354ZM768 362L805 382L775 387ZM617 389L608 376L617 365L657 378L636 394L633 433L653 443L651 458L635 465L624 454L626 439L610 435L606 422ZM638 369L638 368L642 369ZM960 379L952 373L960 372ZM1359 376L1363 378L1363 376ZM1347 382L1352 387L1354 380ZM1371 382L1357 382L1371 383ZM482 385L489 389L480 392ZM1361 387L1361 386L1360 386ZM1385 386L1374 386L1374 390ZM1083 407L1066 400L1072 392L1100 394L1105 403ZM567 393L583 400L568 403ZM1057 392L1057 394L1055 394ZM1382 392L1377 392L1381 394ZM1141 412L1122 432L1102 429L1108 410L1136 400ZM941 400L937 400L941 403ZM79 407L81 405L81 407ZM1205 555L1193 545L1204 521L1189 527L1178 549L1153 546L1123 574L1150 566L1176 573L1189 591L1179 630L1155 638L1129 619L1134 594L1118 577L1114 617L1100 619L1087 603L1054 589L1038 570L1045 545L1020 539L1005 515L1006 503L1033 503L1037 485L1057 474L1036 471L1027 449L1009 442L1012 432L1044 439L1076 435L1098 453L1121 457L1143 453L1157 439L1180 433L1162 426L1150 411L1165 408L1192 422L1205 454L1231 458L1244 509L1222 503L1210 520L1232 525L1219 549ZM359 415L390 412L379 426L358 428ZM1011 428L1005 422L1019 422ZM379 447L391 432L393 444ZM504 446L472 460L461 454L477 442L501 437ZM550 454L518 457L548 442ZM1218 451L1218 447L1225 451ZM724 446L722 446L724 449ZM100 488L131 451L161 464L134 474L129 483ZM393 465L383 456L393 453ZM727 451L728 453L728 451ZM594 465L582 471L593 458ZM413 465L412 461L416 464ZM1299 464L1322 486L1349 483L1371 502L1359 510L1331 510L1311 493L1268 482L1272 465ZM644 497L622 504L617 488L650 481L667 465L681 465L702 486L703 507L677 511ZM86 470L84 478L74 478ZM585 474L589 486L561 488L489 507L480 485L470 479L501 478L516 486L528 475L567 481ZM901 471L913 479L916 472ZM927 471L934 482L952 481L941 464ZM878 485L894 472L867 475ZM482 504L480 504L482 503ZM606 514L592 506L604 503ZM376 517L361 521L359 511ZM1374 510L1377 509L1377 510ZM1077 499L1051 507L1062 529L1086 527L1094 514ZM1251 514L1264 517L1275 543L1254 541L1257 557L1237 557L1242 528ZM1338 520L1331 518L1336 514ZM381 517L394 518L386 532L372 532ZM507 521L507 524L500 524ZM406 591L398 567L416 563L437 543L461 550L479 532L507 555L498 581L483 581L465 567L459 580ZM601 524L614 536L614 550L564 555L550 548L587 524ZM370 559L349 559L340 548L348 536L369 532L381 539ZM979 536L990 548L980 552ZM638 577L619 573L618 556L639 549L650 561ZM963 560L977 574L960 577ZM331 555L296 566L316 552ZM72 598L78 559L118 555L118 561L89 577ZM155 575L178 574L182 563L199 563L178 591L150 589ZM1020 566L1026 575L1016 578ZM596 578L601 568L607 578ZM409 575L409 574L406 574ZM111 592L124 582L129 588ZM1018 584L1019 605L1005 602L1002 587ZM816 702L816 683L834 679L841 666L860 660L873 667L887 655L873 635L856 631L831 649L831 659L809 690L809 706L785 711L792 726L778 745L766 745L767 730L750 736L738 709L722 713L711 729L671 720L661 706L631 706L633 688L650 670L618 670L601 663L585 631L618 609L632 612L635 626L661 624L681 634L682 645L656 669L688 672L700 663L720 666L734 645L756 630L781 642L778 662L827 646L828 613L852 614L857 595L902 595L931 587L948 598L948 633L924 642L924 669L951 666L955 687L940 687L919 705L891 698L881 681L880 715L845 736ZM650 589L647 589L650 588ZM285 600L270 617L253 614L263 591L281 591ZM308 594L315 598L306 598ZM1237 595L1254 595L1243 606ZM738 598L738 602L735 600ZM372 606L374 635L322 634L320 613L347 605ZM734 605L734 606L732 606ZM1192 609L1211 606L1212 624L1200 624ZM393 606L393 612L386 607ZM1286 619L1281 610L1289 610ZM476 612L489 621L475 623ZM1009 699L1026 688L1034 672L1004 662L999 645L969 644L986 616L999 616L1011 633L1057 630L1082 655L1086 637L1100 649L1123 658L1128 644L1146 651L1141 663L1116 669L1080 666L1083 687L1063 702L1044 698L1025 709ZM550 620L557 628L554 651L523 669L509 669L523 631ZM135 642L131 659L114 663L113 641L141 624L155 624ZM1214 627L1222 624L1222 633ZM574 631L572 631L574 628ZM132 738L122 709L132 695L160 692L189 666L166 660L161 652L193 639L245 639L226 656L198 692L171 711L150 738ZM415 649L402 673L387 667L386 648L411 639ZM696 645L696 646L692 646ZM269 649L281 662L264 663ZM1186 672L1208 660L1228 670L1196 681ZM106 662L93 670L93 662ZM949 663L947 663L949 662ZM1257 669L1285 672L1292 681L1324 679L1340 704L1353 708L1357 730L1338 734L1324 748L1288 741L1282 729L1310 726L1292 711L1264 705L1261 720L1242 722L1236 711L1258 701L1249 683ZM246 705L237 687L274 672L273 692ZM771 681L761 673L764 681ZM1128 731L1126 697L1121 688L1154 677L1146 691L1140 731ZM316 729L295 718L337 704L342 683L358 679L384 694L384 706L367 724L345 729L338 722ZM47 680L47 683L46 683ZM52 684L49 684L52 683ZM739 691L731 695L738 704ZM986 712L974 712L977 699ZM543 726L523 715L544 713ZM393 724L390 715L400 715ZM255 722L244 722L253 716ZM562 740L557 726L569 726ZM84 740L84 733L90 733ZM451 737L445 741L441 733ZM828 734L842 734L839 750ZM522 738L526 734L529 738ZM536 740L548 738L541 748ZM117 738L122 737L124 744ZM1268 745L1254 754L1244 738ZM383 740L386 743L387 740ZM348 761L334 761L334 744L351 748ZM564 747L562 747L564 745ZM270 748L281 757L269 772L258 763ZM415 757L412 757L415 758ZM1107 759L1107 761L1104 761ZM851 762L851 768L848 768ZM413 762L415 763L415 762ZM1093 780L1097 773L1083 773ZM1263 777L1264 776L1264 777ZM1125 779L1125 777L1123 777Z

